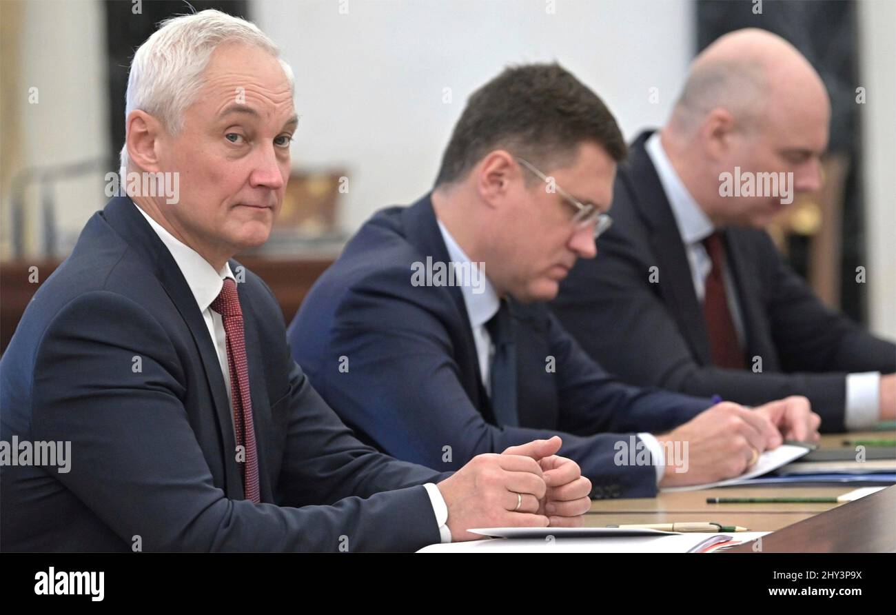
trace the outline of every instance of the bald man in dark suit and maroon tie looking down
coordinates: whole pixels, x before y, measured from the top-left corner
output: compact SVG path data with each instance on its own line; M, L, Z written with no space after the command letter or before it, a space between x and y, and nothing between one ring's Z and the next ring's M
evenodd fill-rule
M786 40L737 30L633 143L615 224L553 307L607 370L744 404L805 395L822 429L896 417L896 346L824 307L763 228L822 185L830 103Z

